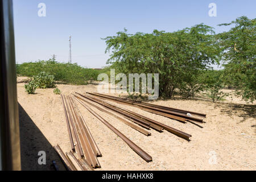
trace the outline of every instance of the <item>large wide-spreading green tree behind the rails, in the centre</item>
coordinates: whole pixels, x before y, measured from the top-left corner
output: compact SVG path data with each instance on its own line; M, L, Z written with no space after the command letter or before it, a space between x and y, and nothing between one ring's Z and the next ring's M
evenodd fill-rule
M172 97L175 89L196 84L193 81L209 64L218 62L219 47L212 27L198 24L176 32L154 30L152 34L109 36L107 63L122 73L159 73L160 96Z

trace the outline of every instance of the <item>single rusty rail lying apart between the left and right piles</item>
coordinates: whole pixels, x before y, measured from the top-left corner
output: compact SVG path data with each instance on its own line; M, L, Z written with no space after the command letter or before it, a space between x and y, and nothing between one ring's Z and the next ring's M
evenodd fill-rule
M110 130L112 130L115 134L118 135L125 143L128 144L129 147L131 147L139 156L141 156L146 162L152 161L152 157L148 155L145 151L143 151L137 144L133 143L129 138L127 138L125 135L123 135L119 130L115 129L114 126L110 125L108 121L106 121L104 118L102 118L100 115L98 115L95 111L90 109L89 106L84 104L83 102L80 101L80 104L85 107L94 117L99 119L104 125L109 127Z

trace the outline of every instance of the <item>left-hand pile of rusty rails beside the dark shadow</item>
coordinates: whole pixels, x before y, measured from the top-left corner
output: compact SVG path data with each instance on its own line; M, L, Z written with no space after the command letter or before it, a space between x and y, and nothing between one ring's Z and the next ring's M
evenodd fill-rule
M94 141L92 134L84 121L84 118L82 118L73 97L61 95L61 99L63 101L64 114L67 122L69 140L72 150L72 152L69 152L66 155L64 155L61 150L56 150L65 163L64 166L68 166L68 168L71 170L76 169L73 167L74 165L72 165L71 160L68 160L68 155L72 156L73 158L73 152L77 152L78 159L73 159L79 166L83 166L87 169L100 168L100 162L98 162L97 157L102 156L101 152L98 149L98 146ZM60 149L60 147L55 146L55 149L57 148ZM85 164L87 165L85 166Z

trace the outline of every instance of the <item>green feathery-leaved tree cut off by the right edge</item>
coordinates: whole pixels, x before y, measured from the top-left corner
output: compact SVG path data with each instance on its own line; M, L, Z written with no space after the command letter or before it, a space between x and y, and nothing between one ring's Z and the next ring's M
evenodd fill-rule
M227 84L236 88L243 100L253 102L256 97L256 19L241 16L219 26L233 26L228 32L218 34Z

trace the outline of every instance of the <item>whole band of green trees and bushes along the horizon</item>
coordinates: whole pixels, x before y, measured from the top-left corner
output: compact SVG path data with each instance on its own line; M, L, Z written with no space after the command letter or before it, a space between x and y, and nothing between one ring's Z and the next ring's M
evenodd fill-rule
M154 30L152 34L127 30L105 38L108 64L102 70L82 68L77 64L53 60L17 65L17 73L35 76L47 72L57 81L86 84L97 80L100 73L159 73L159 95L195 97L204 93L213 102L224 100L225 86L236 89L243 100L256 98L256 20L241 16L231 23L227 32L215 34L213 27L197 24L176 32ZM214 71L211 64L224 69Z

